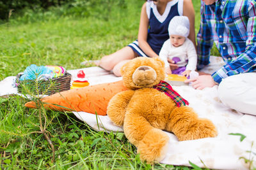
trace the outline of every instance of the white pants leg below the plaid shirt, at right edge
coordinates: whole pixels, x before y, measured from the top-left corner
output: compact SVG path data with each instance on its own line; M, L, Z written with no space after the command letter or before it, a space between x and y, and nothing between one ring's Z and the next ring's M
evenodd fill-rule
M256 73L236 74L223 79L218 95L228 107L256 115Z

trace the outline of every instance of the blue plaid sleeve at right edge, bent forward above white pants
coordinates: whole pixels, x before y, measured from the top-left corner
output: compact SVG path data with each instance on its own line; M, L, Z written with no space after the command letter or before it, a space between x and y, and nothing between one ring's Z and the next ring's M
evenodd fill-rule
M248 22L246 49L236 60L222 66L212 74L212 78L220 83L222 78L227 78L234 74L252 72L256 69L256 3L252 1L248 8Z

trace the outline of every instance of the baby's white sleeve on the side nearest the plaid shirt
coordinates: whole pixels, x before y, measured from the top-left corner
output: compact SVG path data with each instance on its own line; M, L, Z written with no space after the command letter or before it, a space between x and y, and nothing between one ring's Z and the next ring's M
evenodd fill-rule
M196 63L197 63L197 55L196 55L196 49L192 41L189 39L188 46L187 46L187 56L188 56L188 64L186 66L186 70L195 71L196 70Z

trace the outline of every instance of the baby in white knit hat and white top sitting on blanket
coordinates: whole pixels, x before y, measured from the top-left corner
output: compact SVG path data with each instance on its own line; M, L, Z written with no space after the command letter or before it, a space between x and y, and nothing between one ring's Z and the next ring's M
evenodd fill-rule
M181 74L189 76L195 71L197 55L194 44L189 35L189 19L185 16L173 17L168 25L170 39L167 39L159 53L160 59L164 60L166 74ZM171 70L168 58L172 59L179 68Z

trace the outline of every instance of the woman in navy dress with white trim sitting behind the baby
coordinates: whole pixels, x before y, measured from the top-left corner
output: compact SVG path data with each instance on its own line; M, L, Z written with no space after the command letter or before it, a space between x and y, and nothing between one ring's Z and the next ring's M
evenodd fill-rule
M195 11L191 0L148 0L141 9L138 40L102 57L99 66L121 76L120 68L129 60L139 56L158 57L164 41L169 38L168 24L177 15L189 18L188 38L195 44Z

